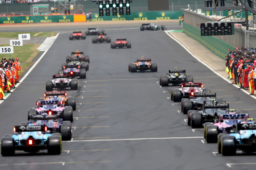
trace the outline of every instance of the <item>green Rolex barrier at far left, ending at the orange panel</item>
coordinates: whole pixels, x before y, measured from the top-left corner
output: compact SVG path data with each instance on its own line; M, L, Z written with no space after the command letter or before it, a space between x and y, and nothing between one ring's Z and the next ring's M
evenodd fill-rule
M73 15L40 15L0 17L0 24L74 22Z

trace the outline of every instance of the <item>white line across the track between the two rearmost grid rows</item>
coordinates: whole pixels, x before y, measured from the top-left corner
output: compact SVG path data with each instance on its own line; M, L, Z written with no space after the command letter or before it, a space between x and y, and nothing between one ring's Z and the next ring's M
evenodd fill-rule
M191 136L191 137L167 137L167 138L131 138L131 139L97 139L97 140L70 140L62 142L95 142L95 141L124 141L124 140L156 140L156 139L197 139L203 138L203 136Z

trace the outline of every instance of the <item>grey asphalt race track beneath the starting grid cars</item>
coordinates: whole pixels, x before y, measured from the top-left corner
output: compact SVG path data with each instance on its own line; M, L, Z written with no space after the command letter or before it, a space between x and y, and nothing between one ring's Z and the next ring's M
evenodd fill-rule
M92 44L93 36L69 40L74 28L59 29L70 33L59 34L29 76L0 105L0 136L12 133L14 125L26 121L28 108L34 107L35 99L45 92L45 82L57 74L67 55L80 50L90 55L90 64L86 79L79 80L79 89L66 90L77 103L73 139L62 141L62 153L57 156L46 152L0 156L0 169L255 169L255 165L244 164L254 163L255 153L224 157L215 153L216 143L203 140L202 129L191 130L180 103L168 99L172 87L160 87L159 77L174 67L186 69L194 76L194 82L203 83L226 99L230 108L250 113L251 118L256 117L255 100L198 62L165 32L140 31L139 27L140 24L131 27L138 29L100 27L109 30L106 33L112 41L127 38L131 49ZM178 24L170 27L182 29ZM158 72L128 72L128 64L141 56L157 63Z

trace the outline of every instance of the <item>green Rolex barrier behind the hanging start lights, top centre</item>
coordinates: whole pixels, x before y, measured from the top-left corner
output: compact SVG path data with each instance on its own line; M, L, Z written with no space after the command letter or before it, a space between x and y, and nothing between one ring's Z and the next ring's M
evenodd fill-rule
M99 13L92 14L92 21L125 21L125 20L170 20L179 19L183 14L182 11L163 11L163 12L131 12L131 15L126 15L124 10L124 15L112 16L99 16Z

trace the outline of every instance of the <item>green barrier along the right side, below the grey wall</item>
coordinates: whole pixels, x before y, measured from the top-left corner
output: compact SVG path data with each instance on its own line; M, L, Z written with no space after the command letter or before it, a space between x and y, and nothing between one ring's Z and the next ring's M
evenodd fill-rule
M198 40L209 50L214 52L219 57L225 59L225 56L228 53L228 48L234 49L235 47L225 43L224 41L214 37L214 36L201 36L201 30L191 26L185 22L183 22L183 31L188 36ZM223 35L223 36L231 36L231 35Z

